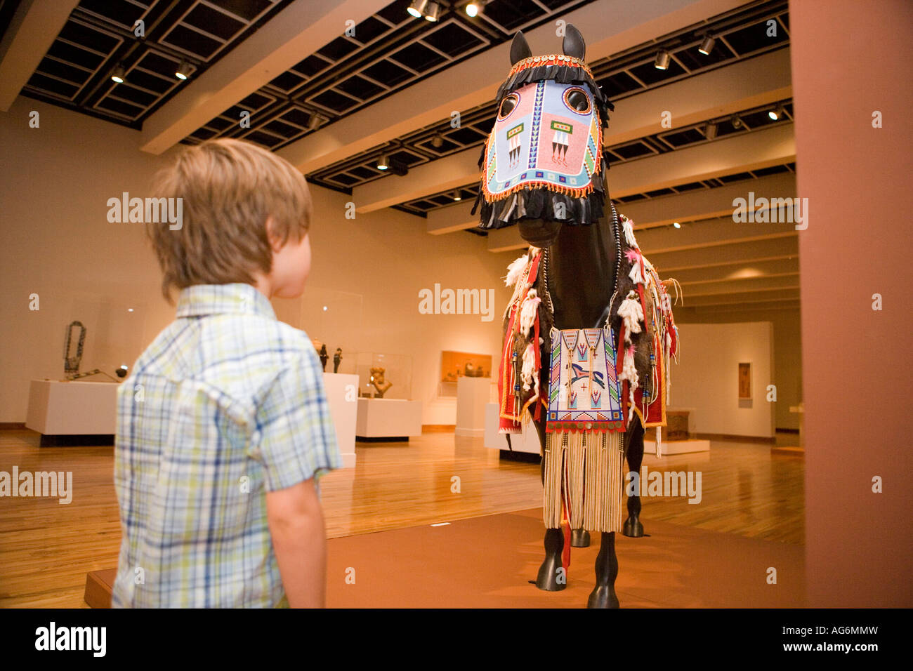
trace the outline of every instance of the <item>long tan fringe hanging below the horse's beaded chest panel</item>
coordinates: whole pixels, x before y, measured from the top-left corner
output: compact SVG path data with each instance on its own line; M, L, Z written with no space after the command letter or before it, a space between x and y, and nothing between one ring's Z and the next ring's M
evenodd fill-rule
M542 458L547 529L561 528L563 498L568 502L572 529L622 530L624 452L618 432L546 434Z

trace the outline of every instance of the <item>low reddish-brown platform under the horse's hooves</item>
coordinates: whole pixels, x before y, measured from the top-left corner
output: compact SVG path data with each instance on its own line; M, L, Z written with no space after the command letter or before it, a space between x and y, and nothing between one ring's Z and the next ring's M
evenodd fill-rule
M446 520L442 520L446 521ZM792 608L804 605L804 547L645 519L617 536L623 608ZM574 548L568 586L530 584L542 561L541 508L331 539L327 604L336 608L582 608L597 540ZM768 569L777 583L768 583ZM352 575L354 583L346 582ZM86 601L110 603L114 571L89 573ZM105 592L107 590L107 592ZM89 601L91 596L92 601ZM97 605L100 604L100 605Z

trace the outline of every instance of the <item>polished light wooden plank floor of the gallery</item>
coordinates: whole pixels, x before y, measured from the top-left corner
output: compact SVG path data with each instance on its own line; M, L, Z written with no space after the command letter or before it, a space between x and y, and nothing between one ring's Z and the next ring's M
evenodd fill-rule
M541 506L539 466L500 461L481 438L434 433L356 452L355 468L321 480L331 538ZM0 471L71 471L74 490L68 505L0 498L0 607L85 607L87 571L117 565L112 455L111 446L41 448L34 432L0 431ZM727 441L712 441L710 453L645 456L649 471L700 471L702 488L699 504L644 498L646 532L659 519L802 544L803 464L769 445Z

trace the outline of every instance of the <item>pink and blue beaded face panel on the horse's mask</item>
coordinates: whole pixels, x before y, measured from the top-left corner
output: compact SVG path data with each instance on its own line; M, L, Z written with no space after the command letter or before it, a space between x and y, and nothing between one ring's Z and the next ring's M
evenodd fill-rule
M510 93L488 137L483 183L502 197L523 187L585 189L599 165L602 135L589 89L538 81ZM585 102L584 102L585 100ZM578 111L578 108L582 111Z

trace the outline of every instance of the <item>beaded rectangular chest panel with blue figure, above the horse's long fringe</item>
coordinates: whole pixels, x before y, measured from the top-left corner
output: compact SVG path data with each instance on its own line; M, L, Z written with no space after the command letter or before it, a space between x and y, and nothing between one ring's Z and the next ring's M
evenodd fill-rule
M552 329L546 430L623 430L615 362L611 329Z

